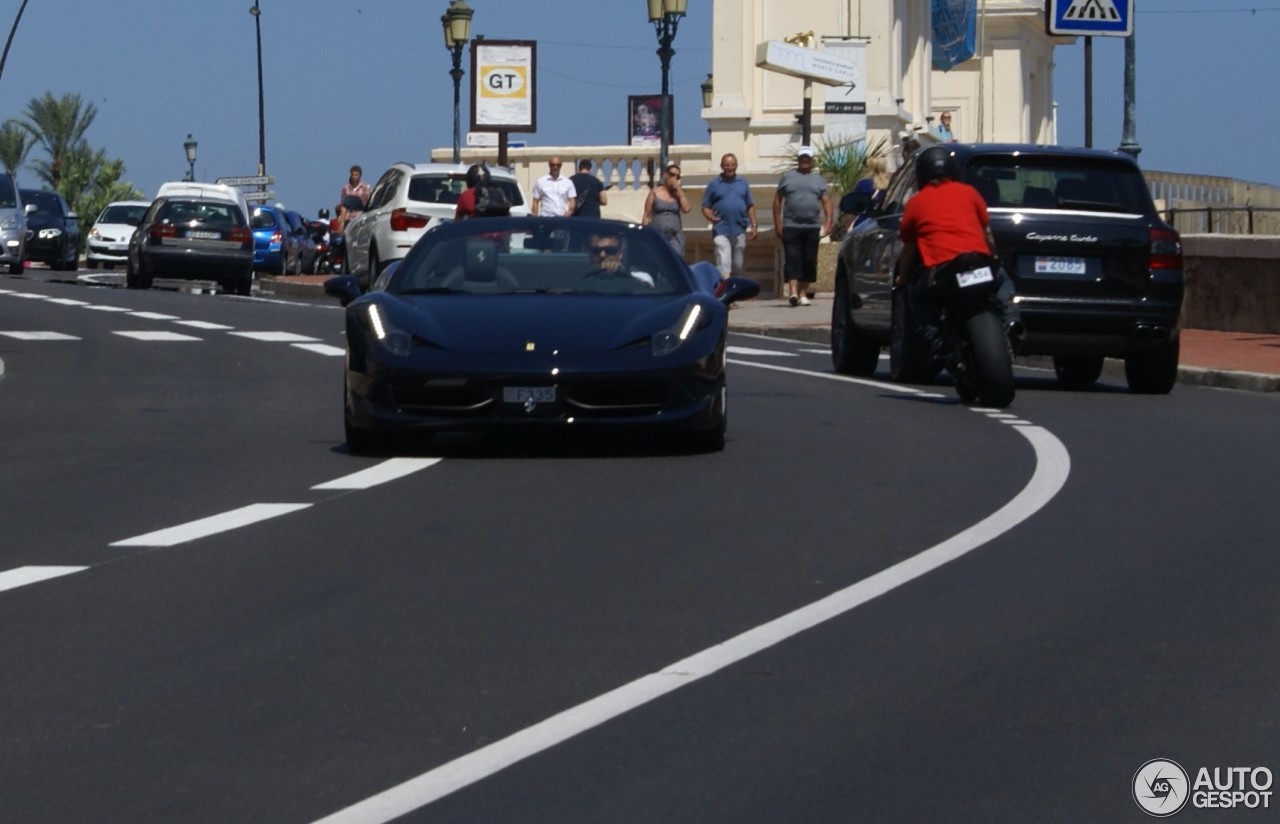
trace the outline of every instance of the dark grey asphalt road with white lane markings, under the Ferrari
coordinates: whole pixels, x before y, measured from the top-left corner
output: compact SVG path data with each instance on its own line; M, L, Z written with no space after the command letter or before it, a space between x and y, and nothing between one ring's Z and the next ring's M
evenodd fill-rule
M1006 416L735 335L721 454L379 461L335 306L0 290L5 823L1139 821L1151 759L1280 770L1272 394Z

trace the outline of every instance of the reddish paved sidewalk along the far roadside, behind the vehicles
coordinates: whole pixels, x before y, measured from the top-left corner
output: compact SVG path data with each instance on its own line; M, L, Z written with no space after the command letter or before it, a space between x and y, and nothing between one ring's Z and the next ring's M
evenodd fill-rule
M316 297L326 275L262 278L264 292ZM737 305L728 316L731 331L831 344L831 294L819 294L812 306L792 307L785 299L755 298ZM1052 368L1044 357L1020 358L1025 366ZM1120 367L1108 362L1108 372ZM1123 372L1119 372L1123 377ZM1247 331L1184 329L1178 383L1249 392L1280 392L1280 335Z

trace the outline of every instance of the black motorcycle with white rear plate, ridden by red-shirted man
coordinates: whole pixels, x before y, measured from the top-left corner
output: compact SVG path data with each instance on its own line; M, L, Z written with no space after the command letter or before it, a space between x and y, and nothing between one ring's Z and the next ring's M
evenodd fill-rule
M932 377L946 368L964 403L1004 408L1014 402L1014 353L996 297L1000 261L966 253L927 270L924 302L938 322L941 347L929 352L923 337L911 331L908 288L895 294L891 371L895 377ZM896 361L896 363L895 363Z

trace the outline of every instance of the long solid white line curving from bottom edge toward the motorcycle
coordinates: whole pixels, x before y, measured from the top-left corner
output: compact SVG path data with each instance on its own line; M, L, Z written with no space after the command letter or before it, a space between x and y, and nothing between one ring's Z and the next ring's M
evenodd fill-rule
M800 371L763 365L760 368ZM803 374L850 380L851 383L872 383L876 386L886 388L884 384L846 379L842 375ZM904 390L904 394L915 394L914 390L906 390L901 386L887 388ZM1052 432L1039 426L1019 427L1014 431L1025 438L1036 452L1036 471L1027 486L1012 500L972 527L838 592L442 764L402 784L319 819L315 824L381 824L412 812L512 764L563 743L593 727L861 606L1004 535L1052 500L1066 484L1071 470L1071 458L1066 447Z

